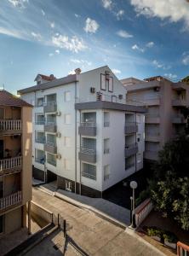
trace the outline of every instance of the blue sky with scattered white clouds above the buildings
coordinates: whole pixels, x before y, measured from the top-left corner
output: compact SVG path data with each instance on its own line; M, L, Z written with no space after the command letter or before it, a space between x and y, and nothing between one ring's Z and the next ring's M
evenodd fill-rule
M188 75L188 1L0 1L0 87L104 65L119 79Z

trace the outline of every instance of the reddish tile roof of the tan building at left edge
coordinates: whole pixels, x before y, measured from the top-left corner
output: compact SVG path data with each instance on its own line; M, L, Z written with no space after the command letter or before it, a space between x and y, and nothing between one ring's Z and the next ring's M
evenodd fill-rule
M0 106L31 107L32 105L14 96L7 90L0 90Z

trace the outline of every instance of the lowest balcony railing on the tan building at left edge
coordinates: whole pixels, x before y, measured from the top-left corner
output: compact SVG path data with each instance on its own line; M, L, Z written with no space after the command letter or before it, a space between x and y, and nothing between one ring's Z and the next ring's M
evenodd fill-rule
M0 199L0 210L14 206L15 204L20 203L21 200L22 200L22 192L21 191L18 191L11 195L7 195Z

